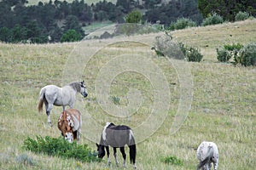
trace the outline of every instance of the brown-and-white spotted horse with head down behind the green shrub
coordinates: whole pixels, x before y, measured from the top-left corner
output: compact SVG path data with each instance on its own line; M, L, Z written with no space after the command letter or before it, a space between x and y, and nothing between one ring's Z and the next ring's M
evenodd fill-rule
M67 109L61 112L58 120L58 128L61 135L69 143L73 143L74 139L80 140L82 126L82 116L80 111L76 109Z

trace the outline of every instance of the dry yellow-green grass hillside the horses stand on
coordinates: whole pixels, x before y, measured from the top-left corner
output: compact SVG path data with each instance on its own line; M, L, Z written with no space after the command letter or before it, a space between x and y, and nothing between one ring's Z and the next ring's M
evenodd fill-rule
M80 94L76 97L75 107L83 111L82 144L96 149L99 129L105 122L125 123L135 129L139 141L137 169L195 169L198 162L195 149L202 140L209 140L218 144L219 169L253 170L256 166L256 69L218 63L216 48L232 42L256 42L255 27L256 20L246 20L172 32L175 40L200 48L204 55L201 63L183 62L180 65L182 70L189 71L190 68L193 101L189 116L177 133L170 133L170 127L183 94L179 82L183 75L177 75L178 69L172 65L175 61L170 64L170 60L157 57L150 50L158 34L80 43L0 43L0 169L124 169L114 166L112 155L112 167L107 167L106 157L102 162L82 163L21 149L26 137L49 135L58 138L61 135L56 125L61 107L55 106L52 110L54 126L49 127L45 113L38 114L38 94L47 84L61 86L63 82L73 81L77 75L68 76L66 73L78 71L89 93L85 99ZM88 56L90 58L86 61L79 60ZM141 57L158 67L149 67L148 63L148 69L144 69L148 72L140 70L147 64L141 63L140 59L144 59ZM86 65L76 67L69 63L70 59L79 61L74 65ZM129 70L127 65L131 63ZM159 73L158 69L168 84L170 105L167 111L160 110L160 115L154 115L152 110L159 109L154 108L154 101L159 98L156 92L162 90L150 76ZM120 108L137 106L131 101L142 102L138 103L138 108L128 108L132 115L119 115L109 112L108 108L104 110L99 98L105 99L105 96L97 93L101 88L101 78L111 81L107 99L118 105L113 105L110 111L120 111L121 114L125 109ZM160 78L161 75L159 81ZM164 102L157 105L161 109ZM144 130L139 129L142 122L147 122L145 127L148 127ZM126 152L129 155L129 151ZM163 160L167 156L176 156L183 164L166 164ZM22 157L26 159L20 159ZM33 163L27 161L27 157ZM127 169L132 169L132 166L128 164Z

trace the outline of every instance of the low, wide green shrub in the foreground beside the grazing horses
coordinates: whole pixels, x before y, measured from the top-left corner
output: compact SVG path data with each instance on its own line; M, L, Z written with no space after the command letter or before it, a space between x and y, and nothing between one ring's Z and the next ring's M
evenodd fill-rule
M68 143L63 138L45 138L37 136L36 139L30 137L24 140L22 148L31 150L37 154L43 153L49 156L60 156L63 158L74 158L79 161L99 161L96 152L91 151L87 144Z

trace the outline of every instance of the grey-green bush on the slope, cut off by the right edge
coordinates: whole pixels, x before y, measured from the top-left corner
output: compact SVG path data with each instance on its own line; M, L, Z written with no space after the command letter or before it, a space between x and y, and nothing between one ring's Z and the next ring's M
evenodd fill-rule
M237 63L244 66L256 65L256 42L250 42L244 48L241 48L237 60Z

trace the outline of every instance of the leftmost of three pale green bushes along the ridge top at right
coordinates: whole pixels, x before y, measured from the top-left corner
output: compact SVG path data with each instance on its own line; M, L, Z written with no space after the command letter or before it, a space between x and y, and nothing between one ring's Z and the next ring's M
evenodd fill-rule
M188 27L194 27L196 23L193 20L186 19L186 18L179 18L176 22L172 22L169 30L181 30Z

